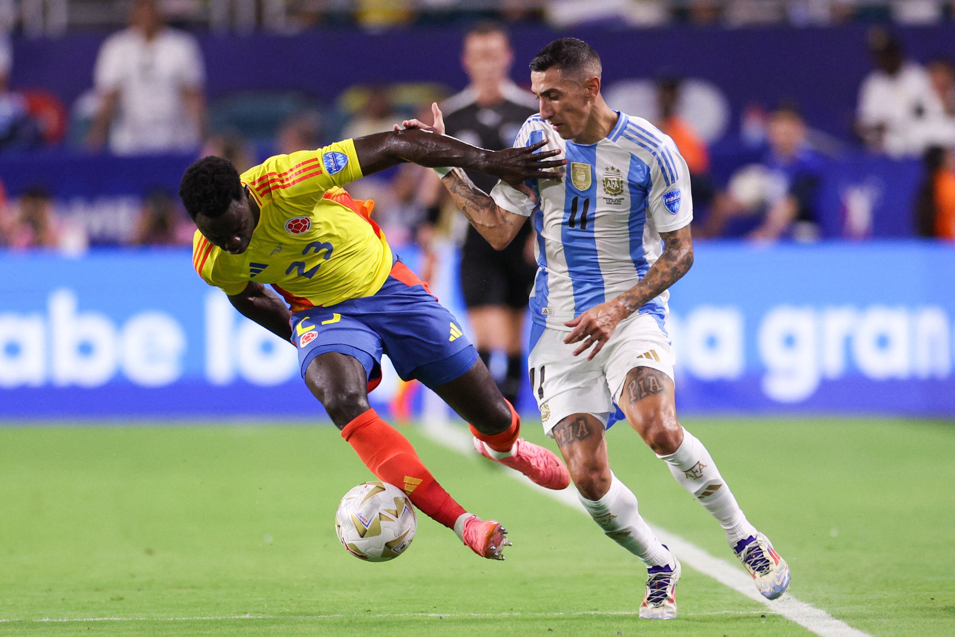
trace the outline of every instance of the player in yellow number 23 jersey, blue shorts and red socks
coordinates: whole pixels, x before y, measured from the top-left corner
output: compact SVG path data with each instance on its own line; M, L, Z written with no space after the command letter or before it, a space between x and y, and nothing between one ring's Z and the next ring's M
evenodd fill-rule
M341 186L403 161L459 166L520 187L562 165L543 144L492 152L419 130L346 139L265 160L242 175L206 157L186 170L180 197L199 230L193 265L232 305L296 346L308 389L377 478L403 488L421 511L453 528L478 555L503 559L507 531L467 513L411 443L368 403L388 354L471 423L477 445L535 482L562 489L562 461L519 437L520 418L500 394L460 325L371 220L373 202ZM270 285L282 298L269 292ZM283 301L284 299L284 301Z

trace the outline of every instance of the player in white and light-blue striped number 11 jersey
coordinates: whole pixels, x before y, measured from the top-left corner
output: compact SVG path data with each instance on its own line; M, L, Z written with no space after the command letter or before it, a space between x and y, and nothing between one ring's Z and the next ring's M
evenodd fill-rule
M607 463L605 429L622 411L673 477L726 531L769 599L789 585L789 567L746 519L706 447L676 417L668 288L693 261L690 176L672 140L601 96L601 61L586 43L562 38L531 62L541 112L516 147L547 141L567 164L488 195L460 170L438 169L458 207L498 249L533 218L538 274L531 292L529 369L544 432L554 437L581 501L606 535L647 564L640 616L676 616L680 563L653 535L637 499ZM406 126L443 133L435 126ZM618 411L619 408L619 411ZM477 450L495 457L477 438Z

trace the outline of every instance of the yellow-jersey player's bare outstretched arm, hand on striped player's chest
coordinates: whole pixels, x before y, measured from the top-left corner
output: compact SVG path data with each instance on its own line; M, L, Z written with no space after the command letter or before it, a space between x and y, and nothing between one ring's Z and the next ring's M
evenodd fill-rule
M371 175L411 161L431 168L456 166L475 170L511 184L540 177L552 178L544 171L565 163L562 159L546 160L559 154L560 150L534 152L545 143L541 141L526 148L489 151L455 138L414 128L354 139L362 175Z

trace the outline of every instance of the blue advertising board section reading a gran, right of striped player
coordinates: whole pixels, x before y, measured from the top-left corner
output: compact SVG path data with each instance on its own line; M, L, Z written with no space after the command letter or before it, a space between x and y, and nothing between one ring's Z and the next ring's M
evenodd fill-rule
M668 330L690 412L955 415L955 248L699 244Z

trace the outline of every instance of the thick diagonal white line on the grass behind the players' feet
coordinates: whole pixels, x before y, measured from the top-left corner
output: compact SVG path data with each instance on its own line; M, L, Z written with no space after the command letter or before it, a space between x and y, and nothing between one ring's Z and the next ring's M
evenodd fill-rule
M428 437L439 444L463 454L475 453L471 442L471 434L466 430L458 429L436 418L425 420L422 429ZM584 505L577 499L577 491L573 485L563 491L554 491L531 482L530 479L516 471L508 471L507 475L519 479L542 494L586 514ZM820 637L871 637L868 633L839 621L821 608L806 602L800 602L789 593L785 593L782 597L772 601L767 600L759 594L759 591L753 585L753 578L741 566L715 558L699 546L670 533L666 529L653 524L650 524L650 527L656 537L679 556L681 562L688 564L704 575L709 575L720 584L729 586L736 592L750 598L753 602L766 605L770 612L782 615L786 619L796 622L799 626L812 630Z

